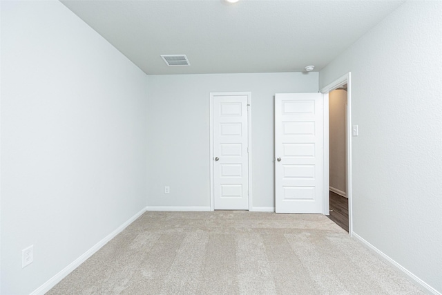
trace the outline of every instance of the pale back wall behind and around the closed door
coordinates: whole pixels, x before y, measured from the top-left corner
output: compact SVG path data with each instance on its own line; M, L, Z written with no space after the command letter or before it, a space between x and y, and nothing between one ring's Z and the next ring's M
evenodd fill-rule
M148 75L149 207L210 206L209 93L233 91L251 91L253 207L274 207L273 95L317 92L318 73Z

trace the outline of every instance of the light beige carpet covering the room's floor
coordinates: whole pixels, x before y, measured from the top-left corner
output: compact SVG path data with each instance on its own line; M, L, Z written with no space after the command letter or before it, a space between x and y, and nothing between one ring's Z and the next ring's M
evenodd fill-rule
M423 294L323 215L146 212L48 294Z

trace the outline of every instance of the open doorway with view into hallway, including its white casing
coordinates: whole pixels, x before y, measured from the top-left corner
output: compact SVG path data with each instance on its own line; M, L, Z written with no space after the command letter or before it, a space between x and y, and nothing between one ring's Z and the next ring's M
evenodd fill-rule
M331 220L352 235L352 140L350 73L336 79L321 90L325 94L327 120L327 152L324 187L325 208ZM327 117L327 118L326 118Z

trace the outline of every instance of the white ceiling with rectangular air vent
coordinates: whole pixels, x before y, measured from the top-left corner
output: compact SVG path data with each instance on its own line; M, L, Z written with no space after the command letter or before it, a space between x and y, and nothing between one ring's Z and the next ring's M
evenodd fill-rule
M320 70L403 1L61 0L146 74ZM381 44L373 44L381 46ZM166 66L160 55L187 55Z

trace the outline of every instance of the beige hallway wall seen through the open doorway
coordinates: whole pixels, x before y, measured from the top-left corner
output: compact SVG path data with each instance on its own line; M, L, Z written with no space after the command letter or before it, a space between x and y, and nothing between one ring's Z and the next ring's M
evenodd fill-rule
M346 192L345 187L345 105L347 91L329 93L329 169L330 187Z

